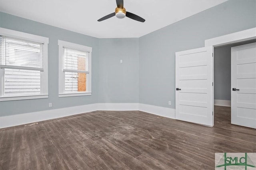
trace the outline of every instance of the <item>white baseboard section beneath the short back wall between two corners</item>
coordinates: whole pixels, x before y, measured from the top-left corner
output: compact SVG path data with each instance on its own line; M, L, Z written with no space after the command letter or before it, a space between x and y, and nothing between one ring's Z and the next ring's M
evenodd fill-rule
M139 110L138 103L98 103L97 110Z

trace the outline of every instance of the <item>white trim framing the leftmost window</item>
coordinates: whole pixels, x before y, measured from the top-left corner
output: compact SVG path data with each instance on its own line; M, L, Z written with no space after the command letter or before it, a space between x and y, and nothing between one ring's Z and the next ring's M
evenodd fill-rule
M49 38L37 36L33 34L28 34L25 32L19 32L14 30L9 30L6 28L0 27L0 35L1 36L8 36L12 38L19 38L22 40L29 40L33 42L43 43L44 46L44 72L41 72L41 85L40 92L41 94L37 95L24 95L24 96L3 96L4 94L4 69L0 67L0 102L2 101L10 101L10 100L27 100L27 99L37 99L37 98L48 98L48 44ZM42 83L43 82L43 83Z

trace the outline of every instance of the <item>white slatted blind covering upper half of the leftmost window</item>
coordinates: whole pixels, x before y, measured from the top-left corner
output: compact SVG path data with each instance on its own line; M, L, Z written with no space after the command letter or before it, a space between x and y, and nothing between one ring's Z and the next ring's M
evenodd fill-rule
M43 43L0 36L1 68L43 71Z

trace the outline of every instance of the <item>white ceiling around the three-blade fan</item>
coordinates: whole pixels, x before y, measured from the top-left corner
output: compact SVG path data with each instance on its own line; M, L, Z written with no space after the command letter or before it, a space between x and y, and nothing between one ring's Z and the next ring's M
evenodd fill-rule
M0 11L97 38L140 37L226 0L124 0L144 23L115 16L115 0L0 0ZM203 22L203 21L202 21Z

